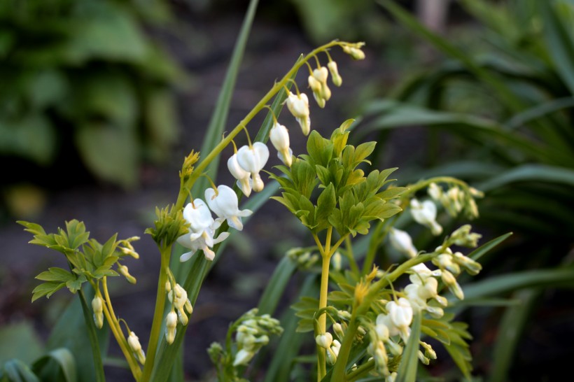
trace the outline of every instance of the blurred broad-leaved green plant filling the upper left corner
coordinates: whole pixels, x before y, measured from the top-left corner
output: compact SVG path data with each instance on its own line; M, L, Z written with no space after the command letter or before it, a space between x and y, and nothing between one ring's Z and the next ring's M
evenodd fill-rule
M95 176L135 185L177 133L171 88L183 72L144 31L167 20L155 0L2 1L4 160L49 167L76 150Z

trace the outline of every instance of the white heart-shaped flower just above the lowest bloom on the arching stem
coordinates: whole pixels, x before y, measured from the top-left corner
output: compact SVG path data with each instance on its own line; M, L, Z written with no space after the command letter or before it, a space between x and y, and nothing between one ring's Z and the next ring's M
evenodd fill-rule
M208 188L205 190L207 205L218 216L218 220L227 220L228 225L241 231L243 223L241 218L251 215L251 210L239 210L237 194L227 185L218 185L217 190Z

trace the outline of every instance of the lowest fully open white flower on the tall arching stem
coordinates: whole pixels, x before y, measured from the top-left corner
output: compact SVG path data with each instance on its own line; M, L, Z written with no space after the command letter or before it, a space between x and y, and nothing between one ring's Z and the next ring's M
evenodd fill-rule
M189 260L197 250L203 250L207 260L214 260L215 253L211 248L216 243L225 240L229 236L229 232L222 232L214 238L215 231L221 222L215 221L211 217L211 212L202 199L195 199L193 203L188 203L186 208L183 208L183 218L190 223L190 232L179 236L177 242L181 246L189 248L190 252L183 253L179 260L181 262Z

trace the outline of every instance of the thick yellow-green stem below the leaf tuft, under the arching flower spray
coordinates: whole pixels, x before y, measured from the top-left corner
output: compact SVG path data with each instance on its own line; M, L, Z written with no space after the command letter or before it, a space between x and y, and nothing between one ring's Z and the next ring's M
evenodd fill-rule
M160 248L161 253L161 269L160 278L158 280L158 295L155 297L155 311L153 313L153 323L151 325L150 341L148 344L148 353L146 354L146 365L144 365L144 374L141 376L142 382L147 382L151 378L153 365L155 363L155 353L158 351L158 342L160 340L160 332L162 330L163 314L165 308L165 283L167 281L169 271L169 257L171 255L171 247Z

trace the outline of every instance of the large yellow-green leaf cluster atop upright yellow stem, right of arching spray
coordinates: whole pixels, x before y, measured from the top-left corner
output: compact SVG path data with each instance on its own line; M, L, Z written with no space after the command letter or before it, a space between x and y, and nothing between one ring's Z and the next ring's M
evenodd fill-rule
M309 134L307 154L297 157L290 168L278 166L283 176L272 175L283 192L273 197L286 206L311 232L335 227L340 236L366 234L372 220L384 220L401 211L389 200L405 188L387 188L395 169L373 170L367 176L360 164L374 150L375 142L358 146L346 144L348 120L325 139L316 131ZM315 195L318 194L318 195Z

